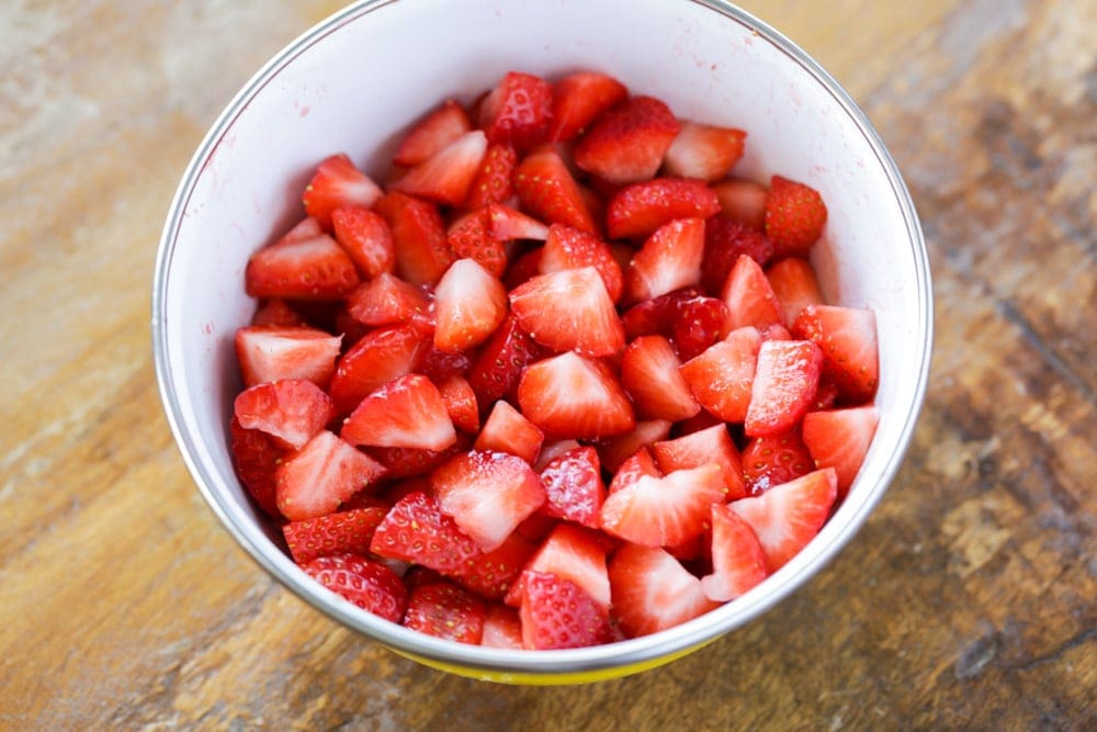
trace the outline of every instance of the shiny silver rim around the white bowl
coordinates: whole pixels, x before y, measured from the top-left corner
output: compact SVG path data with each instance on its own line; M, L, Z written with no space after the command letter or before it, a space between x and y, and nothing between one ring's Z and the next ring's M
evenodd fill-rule
M906 415L898 431L895 450L887 457L878 482L862 498L856 513L848 515L838 530L821 533L793 561L774 573L773 576L779 577L780 582L771 583L771 589L766 593L748 593L689 622L652 635L586 649L530 652L489 649L444 641L408 630L359 609L315 583L281 551L272 551L276 548L252 517L230 497L214 489L213 486L218 483L218 476L200 459L202 451L197 446L201 436L186 428L184 405L181 404L173 388L174 370L168 359L169 324L166 312L168 273L186 203L205 165L222 138L248 106L250 100L274 80L286 65L340 26L398 1L359 0L320 21L284 46L248 80L218 114L186 166L176 190L159 240L154 270L151 340L156 378L165 415L177 448L180 450L200 493L223 527L251 559L275 581L315 609L397 653L416 657L426 663L433 662L448 667L452 665L451 671L472 672L470 675L482 675L484 678L491 677L499 680L499 676L502 675L502 680L506 680L510 674L519 676L529 674L567 675L577 672L598 672L623 667L642 669L689 653L764 615L801 588L834 559L860 530L898 472L925 402L932 351L934 303L928 254L917 211L898 167L868 116L850 94L796 44L767 23L726 0L682 1L702 5L748 29L761 41L769 43L799 65L827 91L863 135L875 155L903 214L907 239L913 249L918 280L916 293L920 305L915 333L920 335L923 342L921 360L917 365L917 382L913 391L912 409ZM826 540L821 541L824 538Z

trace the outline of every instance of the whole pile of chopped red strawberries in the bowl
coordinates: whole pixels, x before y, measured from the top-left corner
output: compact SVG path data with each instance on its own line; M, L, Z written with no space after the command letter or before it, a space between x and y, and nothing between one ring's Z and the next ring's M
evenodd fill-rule
M792 559L875 431L875 320L823 303L826 206L734 177L746 143L603 74L510 72L382 183L319 162L235 342L236 471L294 561L423 633L563 649Z

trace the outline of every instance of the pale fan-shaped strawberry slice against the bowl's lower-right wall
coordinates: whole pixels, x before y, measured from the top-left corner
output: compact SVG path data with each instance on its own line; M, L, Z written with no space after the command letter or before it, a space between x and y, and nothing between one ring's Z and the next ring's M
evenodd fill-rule
M772 574L815 538L837 495L834 469L824 468L728 506L755 530Z

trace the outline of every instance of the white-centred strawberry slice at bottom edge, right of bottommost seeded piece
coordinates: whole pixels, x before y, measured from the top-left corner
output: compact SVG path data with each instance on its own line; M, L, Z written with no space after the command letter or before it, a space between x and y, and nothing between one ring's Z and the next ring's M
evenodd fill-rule
M610 560L613 617L630 638L680 626L720 607L701 581L658 547L625 544Z

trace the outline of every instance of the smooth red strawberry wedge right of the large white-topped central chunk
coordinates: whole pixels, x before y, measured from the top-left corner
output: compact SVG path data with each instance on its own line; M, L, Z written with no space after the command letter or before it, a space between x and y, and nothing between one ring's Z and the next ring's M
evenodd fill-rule
M621 357L621 386L641 417L678 421L701 410L680 368L663 336L641 336L629 344Z

